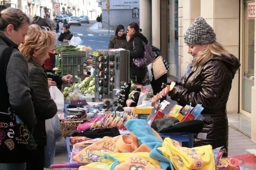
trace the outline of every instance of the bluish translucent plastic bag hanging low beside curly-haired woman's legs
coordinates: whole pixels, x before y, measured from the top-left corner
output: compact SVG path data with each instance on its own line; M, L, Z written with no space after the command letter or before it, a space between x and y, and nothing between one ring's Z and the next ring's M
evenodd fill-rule
M55 156L55 137L51 119L45 120L45 130L47 135L46 146L44 147L44 168L50 168Z

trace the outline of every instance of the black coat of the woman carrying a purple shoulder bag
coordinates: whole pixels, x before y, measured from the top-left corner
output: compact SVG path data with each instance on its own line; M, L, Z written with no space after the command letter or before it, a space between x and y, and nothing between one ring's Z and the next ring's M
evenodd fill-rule
M136 68L133 65L133 59L142 58L144 56L143 42L148 44L148 39L142 33L135 33L126 44L125 49L130 51L130 77L139 76L140 78L144 78L146 74L146 68Z

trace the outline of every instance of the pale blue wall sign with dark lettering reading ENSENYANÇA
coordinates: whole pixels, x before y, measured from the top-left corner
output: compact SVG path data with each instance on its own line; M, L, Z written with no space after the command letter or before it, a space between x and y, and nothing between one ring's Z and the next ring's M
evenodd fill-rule
M140 8L139 0L111 0L111 10L131 10L133 8Z

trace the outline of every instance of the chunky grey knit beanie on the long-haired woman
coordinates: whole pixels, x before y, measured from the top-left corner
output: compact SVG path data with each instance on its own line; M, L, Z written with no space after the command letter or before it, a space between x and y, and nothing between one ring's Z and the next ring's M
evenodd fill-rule
M210 44L215 41L214 30L202 17L196 18L184 33L184 42L188 44Z

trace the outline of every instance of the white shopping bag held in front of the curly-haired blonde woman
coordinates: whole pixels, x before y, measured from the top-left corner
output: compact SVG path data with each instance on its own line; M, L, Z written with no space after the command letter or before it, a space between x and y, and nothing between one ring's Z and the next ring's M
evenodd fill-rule
M63 113L64 111L64 96L57 86L51 86L49 88L52 99L57 105L57 113Z

